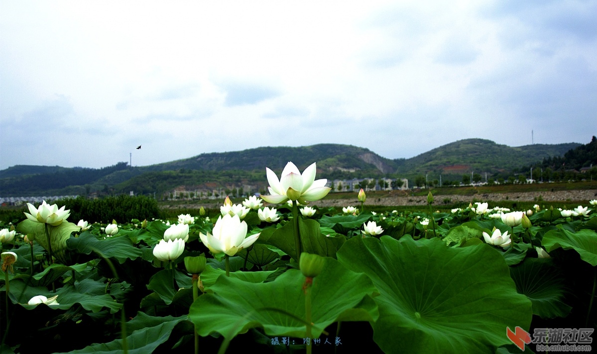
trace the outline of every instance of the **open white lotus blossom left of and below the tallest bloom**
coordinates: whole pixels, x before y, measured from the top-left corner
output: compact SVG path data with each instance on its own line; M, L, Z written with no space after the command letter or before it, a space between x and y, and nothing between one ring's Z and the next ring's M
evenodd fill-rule
M207 246L214 254L226 253L228 256L234 256L238 251L251 246L260 234L251 235L247 238L247 223L241 222L238 215L230 216L226 214L219 216L216 225L214 225L213 235L209 232L204 235L199 233L201 242Z

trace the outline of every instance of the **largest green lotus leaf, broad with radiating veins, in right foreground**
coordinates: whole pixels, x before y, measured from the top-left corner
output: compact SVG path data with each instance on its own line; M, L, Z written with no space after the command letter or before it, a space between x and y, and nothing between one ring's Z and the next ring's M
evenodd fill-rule
M516 293L503 258L485 244L356 237L338 260L380 291L373 339L386 353L494 353L510 343L506 326L531 324L530 300Z

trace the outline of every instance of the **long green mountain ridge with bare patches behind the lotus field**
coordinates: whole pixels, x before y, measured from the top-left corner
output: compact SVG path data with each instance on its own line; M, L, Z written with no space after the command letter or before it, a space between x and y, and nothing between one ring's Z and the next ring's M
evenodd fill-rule
M367 148L341 144L306 147L260 147L226 153L204 153L172 162L129 167L121 162L102 169L17 165L0 171L0 195L88 194L94 191L164 192L177 187L216 188L267 185L265 167L281 172L288 161L303 170L316 162L318 178L414 178L430 173L510 171L563 156L581 144L508 147L485 139L463 139L411 159L387 159ZM433 177L435 178L435 177Z

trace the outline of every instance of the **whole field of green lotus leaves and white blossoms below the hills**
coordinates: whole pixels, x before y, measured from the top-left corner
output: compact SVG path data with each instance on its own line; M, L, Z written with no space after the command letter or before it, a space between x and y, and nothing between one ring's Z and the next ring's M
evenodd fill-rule
M211 218L29 204L0 231L2 353L518 353L507 328L595 327L595 200L336 213L308 205L315 163L266 171Z

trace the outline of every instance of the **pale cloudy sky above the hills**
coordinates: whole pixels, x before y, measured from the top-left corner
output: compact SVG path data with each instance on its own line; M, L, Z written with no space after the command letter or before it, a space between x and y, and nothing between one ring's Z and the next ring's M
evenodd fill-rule
M0 169L587 144L596 18L594 0L0 1Z

